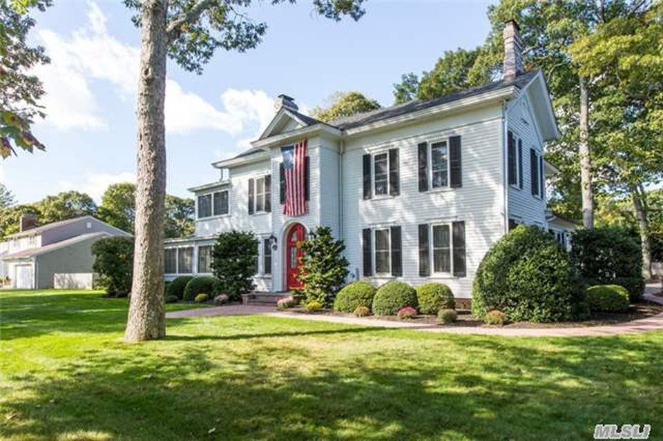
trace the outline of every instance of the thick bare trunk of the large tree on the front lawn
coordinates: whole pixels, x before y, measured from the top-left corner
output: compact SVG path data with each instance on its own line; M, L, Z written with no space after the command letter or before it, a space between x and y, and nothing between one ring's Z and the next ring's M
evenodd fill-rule
M141 10L138 84L138 166L131 305L124 340L166 336L164 306L164 199L166 195L166 0Z

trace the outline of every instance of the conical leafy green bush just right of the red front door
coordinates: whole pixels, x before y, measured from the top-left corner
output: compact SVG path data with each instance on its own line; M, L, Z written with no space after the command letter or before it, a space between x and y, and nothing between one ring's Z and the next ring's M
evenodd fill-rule
M334 239L332 228L320 226L312 238L303 240L298 247L304 251L297 279L302 282L298 291L304 295L305 304L320 302L331 306L348 274L343 255L345 243Z

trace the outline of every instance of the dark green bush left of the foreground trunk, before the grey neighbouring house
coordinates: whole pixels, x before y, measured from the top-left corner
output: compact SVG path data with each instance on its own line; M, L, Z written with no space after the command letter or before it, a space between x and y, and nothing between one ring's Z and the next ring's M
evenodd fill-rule
M104 281L106 293L125 297L131 292L133 277L133 238L105 237L92 245L93 269Z

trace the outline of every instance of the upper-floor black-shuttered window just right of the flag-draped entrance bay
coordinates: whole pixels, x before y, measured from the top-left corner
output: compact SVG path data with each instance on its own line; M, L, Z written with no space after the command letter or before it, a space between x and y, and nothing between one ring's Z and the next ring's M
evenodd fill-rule
M398 148L363 157L364 199L401 193Z

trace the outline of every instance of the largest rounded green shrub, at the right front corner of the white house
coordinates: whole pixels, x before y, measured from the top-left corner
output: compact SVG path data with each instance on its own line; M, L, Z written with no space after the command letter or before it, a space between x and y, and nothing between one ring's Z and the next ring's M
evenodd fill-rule
M566 251L535 226L517 226L479 264L472 313L502 311L512 322L563 322L587 314L586 292Z

